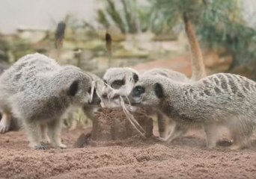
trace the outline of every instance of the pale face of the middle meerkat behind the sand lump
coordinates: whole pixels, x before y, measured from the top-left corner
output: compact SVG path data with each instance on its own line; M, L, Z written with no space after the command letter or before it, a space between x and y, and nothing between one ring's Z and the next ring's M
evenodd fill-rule
M119 96L127 96L131 92L134 84L138 81L138 72L130 68L110 68L103 76L107 84L102 93L102 98L110 98L113 103L119 105Z

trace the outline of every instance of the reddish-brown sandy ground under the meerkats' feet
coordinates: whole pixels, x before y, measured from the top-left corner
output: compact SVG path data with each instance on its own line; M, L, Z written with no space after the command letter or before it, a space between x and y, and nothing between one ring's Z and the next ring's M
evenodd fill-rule
M200 132L171 145L72 148L82 132L64 131L67 149L33 151L23 131L0 136L0 178L256 178L256 146L208 150Z

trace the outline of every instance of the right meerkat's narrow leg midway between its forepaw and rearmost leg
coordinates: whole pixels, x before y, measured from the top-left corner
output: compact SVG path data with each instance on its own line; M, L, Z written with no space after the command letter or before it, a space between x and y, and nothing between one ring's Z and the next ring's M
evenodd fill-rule
M204 124L206 134L207 148L216 148L219 139L219 124L215 122Z

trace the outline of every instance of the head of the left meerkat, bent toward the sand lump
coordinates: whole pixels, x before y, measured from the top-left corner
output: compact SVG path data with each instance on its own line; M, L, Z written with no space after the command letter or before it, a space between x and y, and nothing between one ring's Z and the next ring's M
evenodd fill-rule
M91 75L75 66L64 66L57 75L58 83L64 87L64 93L74 105L100 104L100 98L93 87Z

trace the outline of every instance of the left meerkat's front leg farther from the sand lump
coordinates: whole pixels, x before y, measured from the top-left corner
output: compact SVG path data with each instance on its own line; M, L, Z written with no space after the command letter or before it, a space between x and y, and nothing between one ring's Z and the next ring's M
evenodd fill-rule
M26 121L24 128L28 135L29 146L36 150L45 150L46 147L41 144L42 134L40 129L40 122Z

